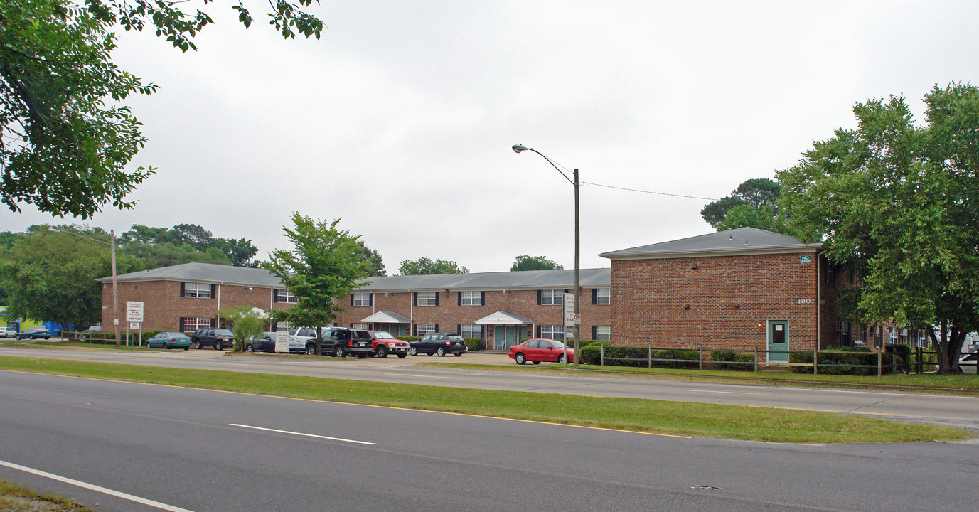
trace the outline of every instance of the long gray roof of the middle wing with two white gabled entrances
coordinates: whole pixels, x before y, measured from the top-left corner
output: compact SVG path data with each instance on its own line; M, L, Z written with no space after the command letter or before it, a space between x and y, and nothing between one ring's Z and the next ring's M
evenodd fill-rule
M439 290L501 290L573 288L575 270L527 270L523 272L478 272L471 274L393 275L370 278L371 284L358 292L405 292ZM612 285L611 268L583 268L582 288Z

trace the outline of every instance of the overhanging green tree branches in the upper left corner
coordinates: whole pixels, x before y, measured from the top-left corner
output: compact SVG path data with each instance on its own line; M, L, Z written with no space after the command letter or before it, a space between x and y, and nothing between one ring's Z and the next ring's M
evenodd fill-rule
M210 0L201 0L207 4ZM319 37L323 23L286 0L271 3L269 23L286 38ZM112 29L142 30L187 51L210 17L187 15L184 1L0 1L0 201L55 215L90 218L102 206L132 208L125 197L153 167L128 169L146 143L141 123L122 103L151 94L153 84L112 62ZM232 5L246 27L252 15Z

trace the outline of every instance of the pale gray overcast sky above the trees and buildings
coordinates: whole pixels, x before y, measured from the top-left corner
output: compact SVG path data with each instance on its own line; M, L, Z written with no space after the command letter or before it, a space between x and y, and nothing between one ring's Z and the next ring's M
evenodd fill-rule
M517 255L574 267L599 253L709 233L708 202L774 177L814 140L853 127L853 105L979 81L979 2L322 0L320 40L281 38L267 3L207 6L216 24L182 54L124 33L117 64L159 93L129 105L154 165L130 199L89 221L29 206L0 230L81 222L194 223L289 249L293 211L378 251L509 270ZM195 4L197 5L197 4ZM920 120L920 115L916 116Z

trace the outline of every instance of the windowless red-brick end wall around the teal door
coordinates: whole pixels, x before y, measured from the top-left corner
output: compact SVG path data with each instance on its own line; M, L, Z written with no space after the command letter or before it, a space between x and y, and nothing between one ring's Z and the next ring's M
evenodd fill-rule
M811 254L810 254L811 255ZM800 254L612 261L612 339L695 349L767 348L788 320L789 349L816 344L816 257Z

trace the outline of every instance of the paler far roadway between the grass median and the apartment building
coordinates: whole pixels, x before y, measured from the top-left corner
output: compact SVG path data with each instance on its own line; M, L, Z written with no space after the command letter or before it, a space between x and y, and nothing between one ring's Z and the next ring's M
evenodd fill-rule
M322 357L314 360L289 356L270 356L268 354L230 356L226 353L212 349L110 351L0 348L0 355L304 375L427 386L584 396L629 396L816 410L950 425L979 432L979 397L976 396L937 396L896 392L729 385L623 375L575 375L570 371L567 374L496 372L483 369L438 368L417 365L418 362L432 360L514 364L505 354L486 352L471 352L461 357L445 358L409 355L404 359L396 357L386 359Z

